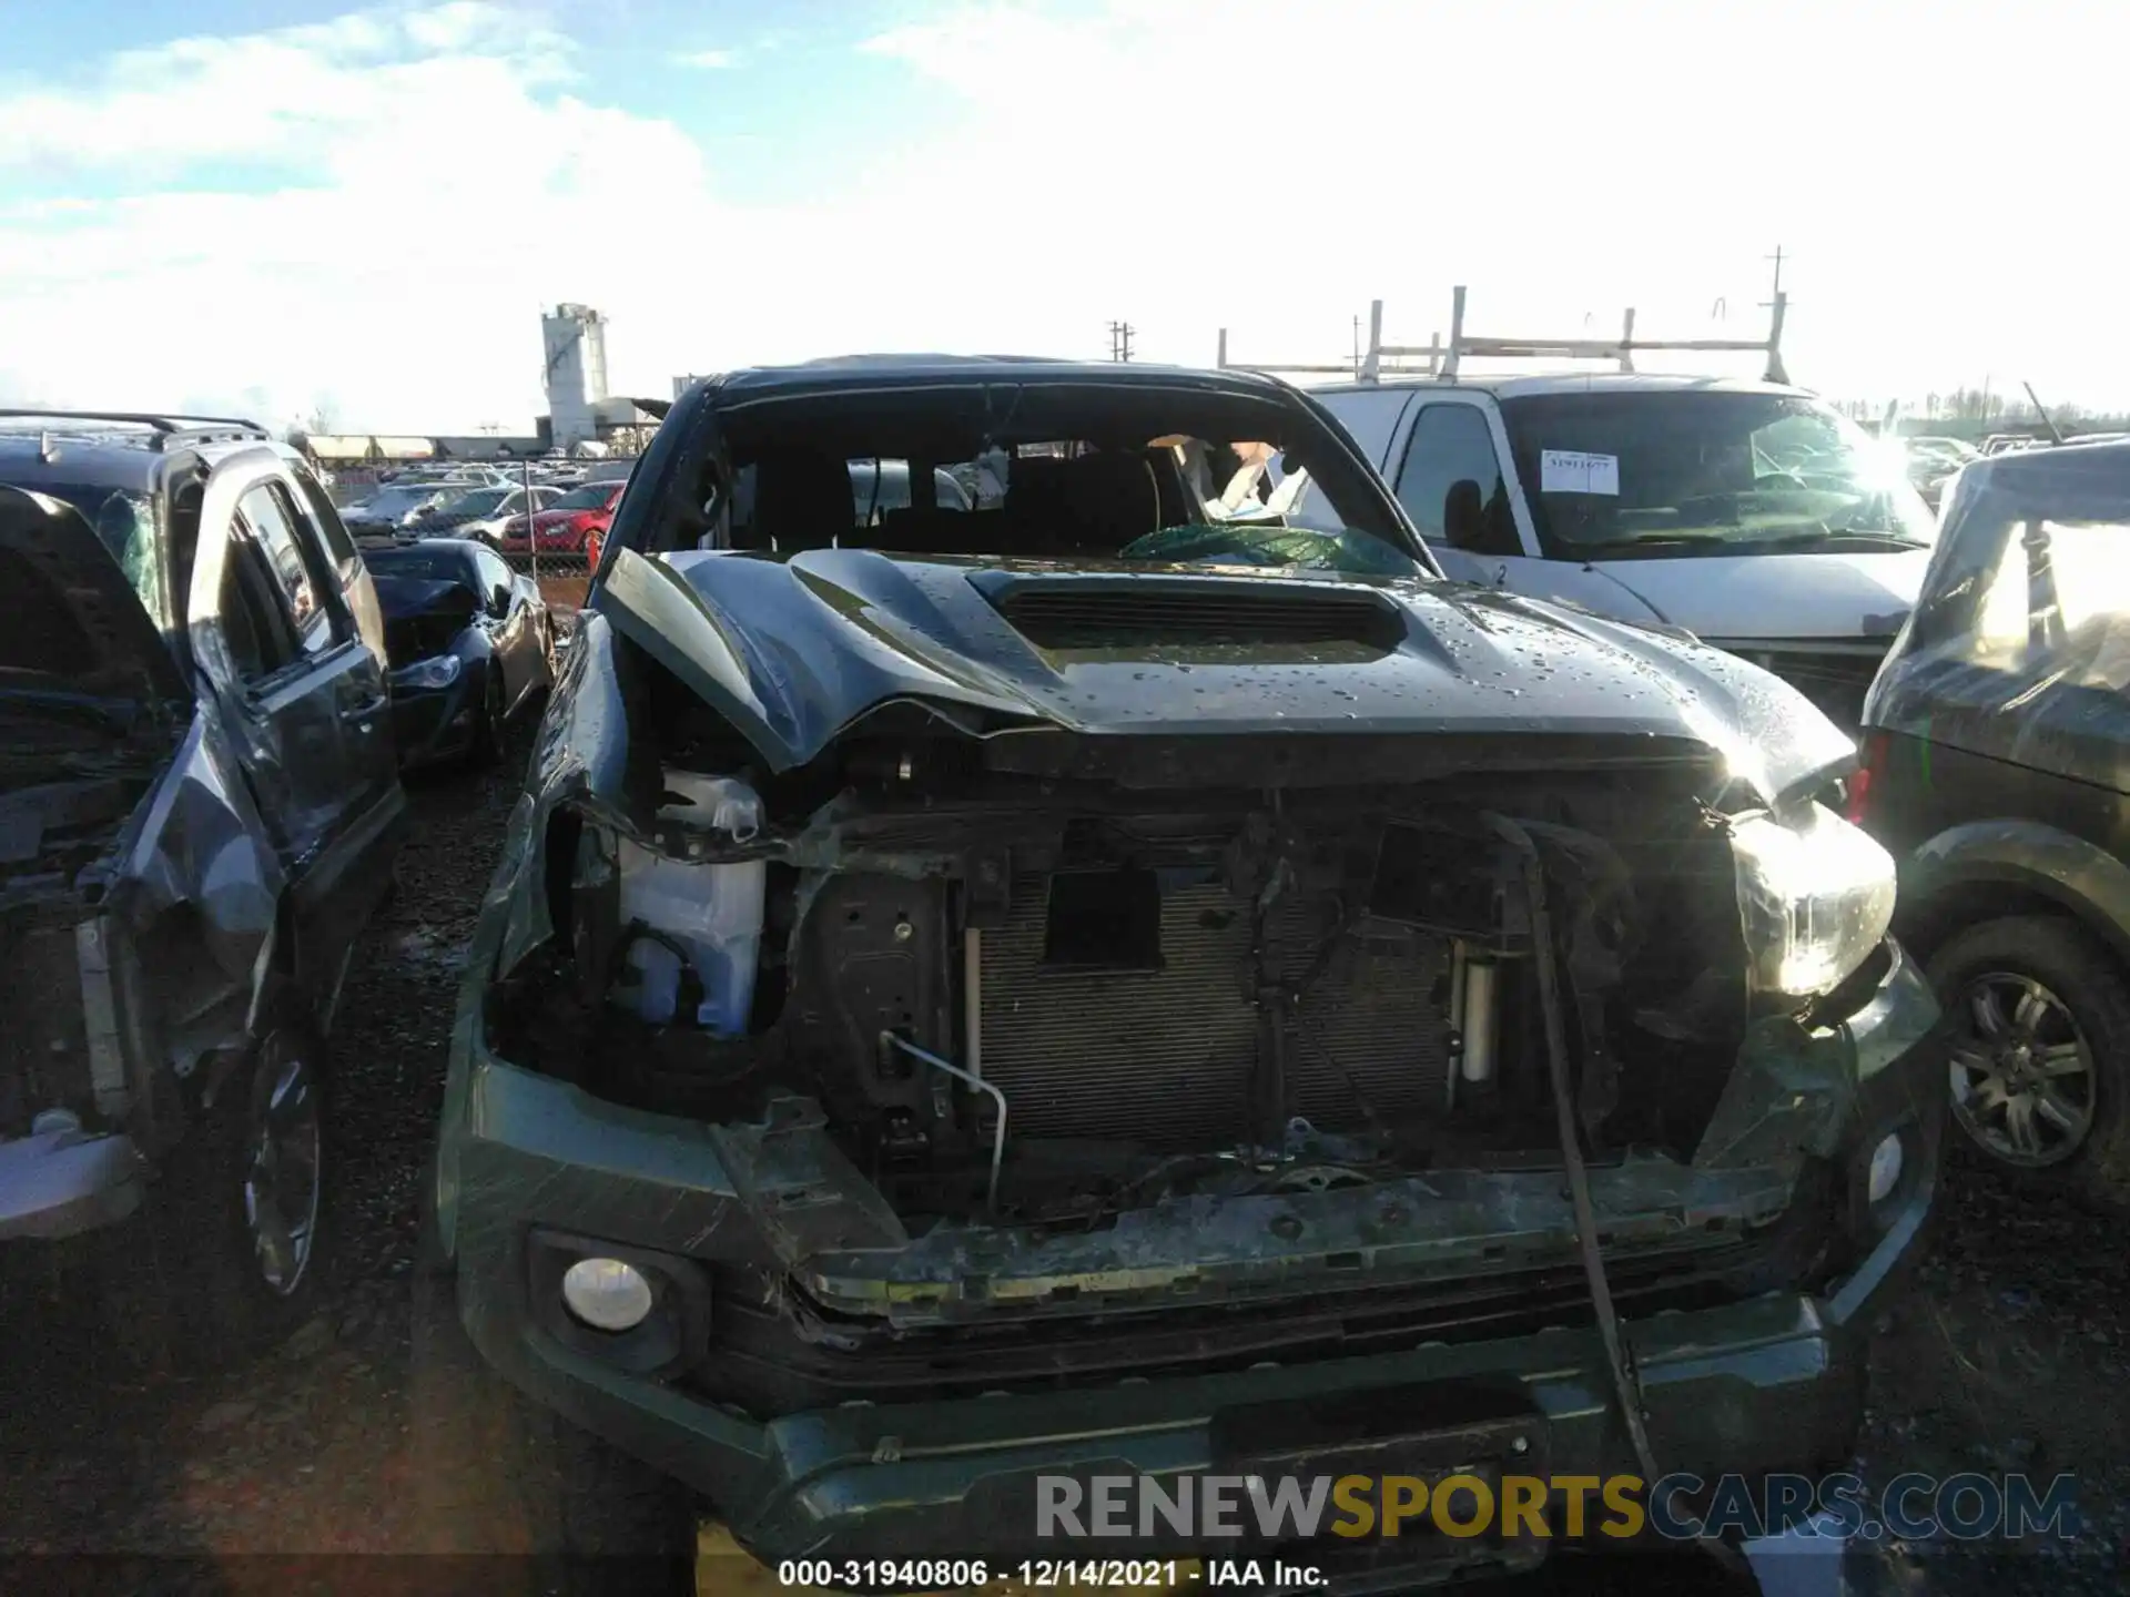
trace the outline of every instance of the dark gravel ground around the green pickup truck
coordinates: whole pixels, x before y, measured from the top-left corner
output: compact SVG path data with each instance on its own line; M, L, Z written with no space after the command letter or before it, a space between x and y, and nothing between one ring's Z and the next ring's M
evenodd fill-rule
M121 1356L79 1301L53 1295L26 1305L17 1288L0 1327L9 1348L0 1554L190 1561L98 1565L109 1576L98 1584L132 1591L690 1584L686 1503L509 1399L462 1339L452 1344L430 1282L413 1269L460 958L513 788L515 762L413 784L417 830L400 890L368 933L334 1039L330 1307L249 1367L183 1378ZM1851 1552L1849 1588L2121 1591L2126 1435L2130 1267L2119 1226L1987 1171L1955 1169L1919 1290L1879 1341L1859 1473L1883 1484L1906 1469L2068 1471L2079 1478L2083 1537L2070 1552L1989 1561L1938 1548ZM564 1548L630 1561L552 1561ZM332 1557L351 1552L535 1557ZM669 1557L679 1563L652 1561ZM1810 1563L1823 1571L1825 1561ZM72 1569L43 1571L62 1567ZM40 1565L9 1569L0 1584L21 1588ZM703 1569L705 1591L773 1586L741 1557ZM1708 1591L1708 1567L1674 1561L1625 1584ZM1593 1586L1578 1567L1517 1586L1534 1588Z

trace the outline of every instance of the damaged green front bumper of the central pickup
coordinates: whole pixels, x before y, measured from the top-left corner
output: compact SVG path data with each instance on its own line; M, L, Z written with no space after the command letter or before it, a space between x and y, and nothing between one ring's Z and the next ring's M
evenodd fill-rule
M1887 1131L1908 1139L1902 1184L1877 1218L1857 1212L1870 1229L1838 1280L1625 1322L1664 1469L1813 1471L1849 1456L1868 1327L1915 1263L1936 1184L1945 1086L1934 1020L1928 988L1896 956L1879 992L1838 1028L1857 1084L1838 1146L1821 1156L1859 1171ZM1035 1478L1220 1471L1233 1461L1223 1437L1240 1410L1340 1399L1367 1407L1412 1386L1508 1395L1538 1418L1555 1476L1636 1469L1593 1329L763 1420L564 1344L532 1303L535 1229L679 1258L743 1258L735 1207L703 1126L618 1109L496 1060L481 1043L477 992L469 997L439 1158L439 1216L469 1335L535 1399L709 1497L765 1561L1129 1552L1114 1542L1037 1542Z

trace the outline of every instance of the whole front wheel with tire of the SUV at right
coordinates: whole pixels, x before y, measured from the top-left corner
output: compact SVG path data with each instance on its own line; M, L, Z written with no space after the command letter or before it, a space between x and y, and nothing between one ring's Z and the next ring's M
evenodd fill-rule
M1985 920L1930 958L1951 1026L1953 1122L1968 1143L2017 1180L2111 1207L2130 1203L2124 975L2075 922L2051 916Z

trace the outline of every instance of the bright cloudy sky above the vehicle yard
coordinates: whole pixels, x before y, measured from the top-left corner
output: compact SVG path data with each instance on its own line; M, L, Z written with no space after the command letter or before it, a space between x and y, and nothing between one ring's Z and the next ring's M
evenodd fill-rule
M1759 332L2130 402L2119 19L1889 0L0 0L0 400L526 428L852 349Z

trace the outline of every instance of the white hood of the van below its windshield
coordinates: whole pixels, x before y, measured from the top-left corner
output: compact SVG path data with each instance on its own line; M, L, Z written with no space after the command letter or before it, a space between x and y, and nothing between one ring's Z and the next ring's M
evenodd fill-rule
M1672 626L1740 639L1891 639L1915 609L1930 549L1595 560Z

